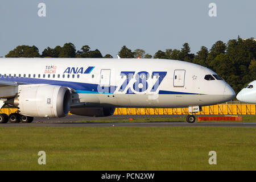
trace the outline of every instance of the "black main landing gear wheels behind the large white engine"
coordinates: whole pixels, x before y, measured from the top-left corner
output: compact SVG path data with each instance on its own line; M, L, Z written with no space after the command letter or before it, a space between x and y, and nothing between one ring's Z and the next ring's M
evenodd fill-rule
M33 121L33 117L22 115L19 113L11 113L9 116L7 114L0 114L0 123L31 123Z

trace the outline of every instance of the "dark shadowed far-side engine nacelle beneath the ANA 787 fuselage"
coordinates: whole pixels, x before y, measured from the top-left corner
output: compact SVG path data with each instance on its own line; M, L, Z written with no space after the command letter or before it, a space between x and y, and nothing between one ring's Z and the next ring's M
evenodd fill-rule
M70 112L76 115L85 115L91 117L106 117L113 115L115 107L82 107L71 108Z

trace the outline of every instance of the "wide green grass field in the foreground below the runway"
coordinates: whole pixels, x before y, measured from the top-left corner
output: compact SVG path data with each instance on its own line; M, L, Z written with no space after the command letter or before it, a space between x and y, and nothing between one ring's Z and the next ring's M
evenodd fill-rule
M255 128L0 127L0 170L255 170ZM39 151L46 165L39 165ZM217 165L209 165L209 151Z

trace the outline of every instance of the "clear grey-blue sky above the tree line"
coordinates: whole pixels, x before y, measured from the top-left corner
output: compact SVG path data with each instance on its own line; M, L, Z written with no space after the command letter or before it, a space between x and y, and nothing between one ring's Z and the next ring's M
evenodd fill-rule
M38 16L39 3L46 16ZM217 16L209 16L210 3ZM212 12L212 11L211 11ZM122 46L132 51L208 49L218 40L256 38L255 0L1 0L0 56L16 46L88 45L116 57Z

